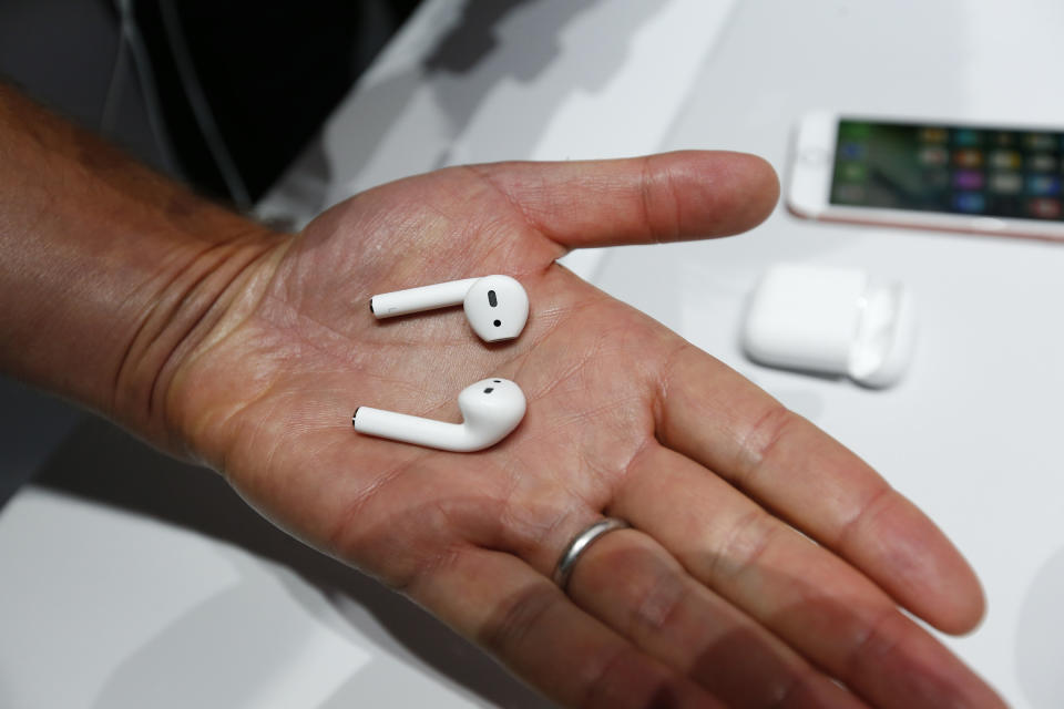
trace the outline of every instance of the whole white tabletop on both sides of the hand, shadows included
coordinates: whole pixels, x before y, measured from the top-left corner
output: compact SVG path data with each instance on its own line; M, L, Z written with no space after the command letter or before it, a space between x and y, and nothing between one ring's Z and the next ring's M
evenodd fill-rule
M487 20L473 4L424 2L259 213L305 222L467 161L720 147L782 171L812 107L1064 125L1064 6L1051 0L475 3ZM743 304L778 260L904 280L921 326L908 378L873 392L749 363ZM948 641L1014 706L1064 705L1064 246L778 210L743 237L570 265L930 512L990 599L984 626ZM256 521L219 481L86 425L0 512L0 706L546 706L422 612Z

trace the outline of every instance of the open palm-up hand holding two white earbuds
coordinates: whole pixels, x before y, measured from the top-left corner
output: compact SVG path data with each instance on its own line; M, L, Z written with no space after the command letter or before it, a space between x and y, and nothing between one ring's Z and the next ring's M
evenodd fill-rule
M372 189L237 259L173 369L166 419L269 518L565 705L1001 706L899 609L948 633L983 612L927 517L554 263L740 232L777 193L761 161L726 153L451 168ZM377 321L367 307L492 273L529 291L515 341L484 345L461 309ZM351 430L364 404L458 421L458 392L490 376L522 387L528 414L488 451ZM603 536L562 593L561 551L604 515L633 528Z

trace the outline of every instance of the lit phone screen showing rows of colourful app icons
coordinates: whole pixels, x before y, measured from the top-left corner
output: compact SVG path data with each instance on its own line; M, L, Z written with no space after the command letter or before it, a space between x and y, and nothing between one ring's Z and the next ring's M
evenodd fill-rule
M831 204L1064 220L1064 133L841 120Z

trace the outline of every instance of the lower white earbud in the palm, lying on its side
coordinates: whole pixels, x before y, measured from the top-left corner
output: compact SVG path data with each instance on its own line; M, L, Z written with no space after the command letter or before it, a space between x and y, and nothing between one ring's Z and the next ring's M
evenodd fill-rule
M461 423L359 407L351 423L359 433L443 451L469 453L494 445L524 418L524 392L509 379L483 379L458 394Z

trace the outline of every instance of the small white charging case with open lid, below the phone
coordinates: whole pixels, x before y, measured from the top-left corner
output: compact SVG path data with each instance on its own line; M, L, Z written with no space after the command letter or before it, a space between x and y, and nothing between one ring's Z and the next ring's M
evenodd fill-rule
M901 282L805 264L765 273L743 327L743 347L757 362L869 387L901 379L914 340L912 300Z

